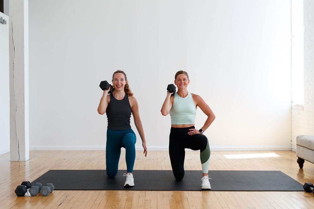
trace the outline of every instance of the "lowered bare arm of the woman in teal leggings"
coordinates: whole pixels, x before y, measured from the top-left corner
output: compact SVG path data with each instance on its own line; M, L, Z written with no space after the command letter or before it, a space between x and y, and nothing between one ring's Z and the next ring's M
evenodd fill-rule
M138 102L135 97L129 97L130 105L131 105L131 110L132 110L132 115L134 119L134 124L136 126L136 129L138 130L138 133L142 139L142 146L144 148L144 154L145 157L147 155L147 147L146 147L146 140L145 140L145 135L144 135L144 129L142 125L141 118L139 117L139 112L138 112Z

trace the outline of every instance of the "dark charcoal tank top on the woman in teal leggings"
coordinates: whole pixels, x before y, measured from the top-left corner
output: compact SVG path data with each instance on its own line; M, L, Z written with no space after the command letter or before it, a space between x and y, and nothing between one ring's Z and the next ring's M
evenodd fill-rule
M131 128L131 106L129 97L125 94L122 100L117 100L112 94L110 94L110 102L106 109L108 126L107 128L112 130L127 130Z

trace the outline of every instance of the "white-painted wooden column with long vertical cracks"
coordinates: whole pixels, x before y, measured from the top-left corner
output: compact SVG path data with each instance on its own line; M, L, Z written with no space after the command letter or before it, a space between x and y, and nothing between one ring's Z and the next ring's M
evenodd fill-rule
M10 160L29 160L28 0L9 3Z

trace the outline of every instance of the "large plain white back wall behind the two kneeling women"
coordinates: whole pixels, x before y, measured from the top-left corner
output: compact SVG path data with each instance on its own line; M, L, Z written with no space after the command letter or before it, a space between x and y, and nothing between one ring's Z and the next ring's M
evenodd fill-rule
M168 149L160 108L178 70L216 115L212 150L291 149L290 1L34 0L29 15L30 149L105 149L99 82L117 69L149 150Z

